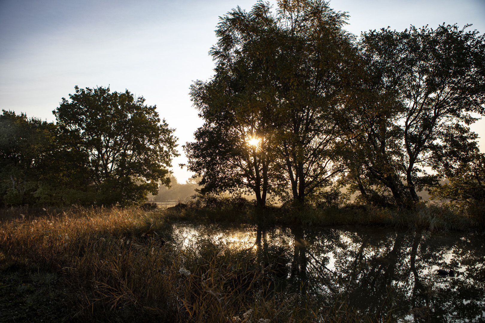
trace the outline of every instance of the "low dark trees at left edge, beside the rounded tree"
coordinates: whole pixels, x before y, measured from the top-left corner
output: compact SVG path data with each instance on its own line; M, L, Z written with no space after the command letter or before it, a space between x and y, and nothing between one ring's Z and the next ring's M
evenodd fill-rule
M79 138L58 124L3 111L0 116L1 201L71 205L95 201Z

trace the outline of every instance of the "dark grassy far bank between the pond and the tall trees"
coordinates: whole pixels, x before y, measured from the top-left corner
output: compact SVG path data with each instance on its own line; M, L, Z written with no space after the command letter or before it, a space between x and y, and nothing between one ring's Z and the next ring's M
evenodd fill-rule
M258 209L253 201L240 197L197 196L168 208L164 215L169 219L230 221L267 226L352 225L459 231L485 228L484 211L483 208L469 210L432 202L421 202L413 210L355 204L333 208L285 204Z

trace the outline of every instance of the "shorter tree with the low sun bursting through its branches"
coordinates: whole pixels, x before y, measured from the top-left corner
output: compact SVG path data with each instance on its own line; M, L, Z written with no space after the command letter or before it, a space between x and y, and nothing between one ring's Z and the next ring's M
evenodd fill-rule
M264 207L279 178L271 136L261 118L260 109L266 103L256 95L248 98L247 92L251 96L252 90L247 87L238 92L225 85L214 91L220 88L216 85L219 81L220 75L192 88L193 100L206 123L195 132L196 141L184 146L189 169L203 174L199 183L202 193L254 193L258 205Z

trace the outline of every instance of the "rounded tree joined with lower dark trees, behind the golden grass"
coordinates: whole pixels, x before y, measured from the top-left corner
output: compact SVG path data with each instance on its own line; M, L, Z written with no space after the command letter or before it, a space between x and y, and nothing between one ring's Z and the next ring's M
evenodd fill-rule
M3 110L1 204L135 205L169 185L177 138L155 106L101 87L70 99L56 124Z

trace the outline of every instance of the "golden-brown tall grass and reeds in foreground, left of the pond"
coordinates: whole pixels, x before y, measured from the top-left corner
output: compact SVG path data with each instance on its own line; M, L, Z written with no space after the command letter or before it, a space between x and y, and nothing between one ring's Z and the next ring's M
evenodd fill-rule
M0 321L393 322L392 308L361 315L341 295L276 292L277 259L252 249L166 242L173 210L10 210Z

